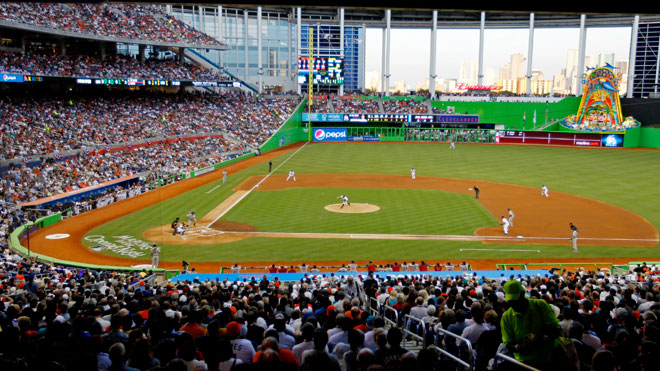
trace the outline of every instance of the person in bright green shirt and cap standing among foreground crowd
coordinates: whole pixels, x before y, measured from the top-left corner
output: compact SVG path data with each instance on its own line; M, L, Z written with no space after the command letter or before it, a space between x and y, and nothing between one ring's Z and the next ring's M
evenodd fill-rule
M504 284L509 309L502 315L502 341L518 361L549 369L555 340L561 335L559 320L543 300L528 299L519 281Z

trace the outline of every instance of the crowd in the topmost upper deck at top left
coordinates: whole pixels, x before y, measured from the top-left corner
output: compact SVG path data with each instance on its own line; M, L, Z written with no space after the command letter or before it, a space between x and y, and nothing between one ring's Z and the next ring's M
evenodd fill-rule
M0 3L0 20L122 39L219 46L222 43L154 5Z

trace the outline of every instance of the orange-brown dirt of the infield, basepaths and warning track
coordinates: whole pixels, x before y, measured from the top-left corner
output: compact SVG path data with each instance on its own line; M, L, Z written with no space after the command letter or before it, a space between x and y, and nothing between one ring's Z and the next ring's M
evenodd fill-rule
M255 156L237 164L229 165L227 169L234 174L252 166L265 164L283 153L295 150L300 145L289 146L262 156ZM418 176L412 180L409 175L382 174L296 174L297 182L286 182L286 174L274 174L268 177L255 192L260 190L279 190L292 187L317 188L361 188L361 189L437 189L447 192L469 194L474 192L469 188L477 185L480 188L479 203L497 220L506 215L507 208L515 214L515 224L511 228L511 237L504 236L500 226L480 228L473 236L413 236L413 235L350 235L350 234L315 234L315 233L271 233L257 231L254 226L244 223L216 220L231 204L240 198L242 192L250 190L263 179L255 176L246 179L235 188L235 193L219 204L209 214L197 221L197 227L191 228L184 236L172 236L169 225L158 226L144 232L143 237L149 241L173 245L218 244L237 241L251 237L272 238L368 238L368 239L444 239L444 240L479 240L483 243L504 244L544 244L570 245L569 222L580 228L580 245L594 246L636 246L654 247L658 243L658 232L653 225L641 216L620 207L605 202L584 198L550 189L550 198L541 197L540 188L530 188L518 185L494 183L467 179L439 178ZM133 213L165 199L175 197L190 189L222 178L222 171L214 171L199 177L162 187L158 192L147 192L121 202L111 204L102 209L78 215L63 220L60 223L46 227L32 234L32 251L62 260L85 262L96 265L133 266L148 263L147 259L130 259L110 256L90 250L83 245L82 240L90 230L110 220ZM353 204L352 204L353 205ZM346 209L347 207L344 207ZM46 236L54 233L68 233L70 238L63 240L46 240ZM516 238L521 235L524 238ZM23 241L25 246L25 242ZM302 259L303 257L301 257ZM441 258L441 257L439 257ZM349 259L349 258L347 258ZM562 259L588 262L601 261L603 258ZM552 260L543 258L540 261ZM607 260L618 263L630 261L629 258ZM236 261L241 262L240 259ZM495 263L534 262L539 259L471 259L475 269L492 269ZM301 260L302 262L302 260ZM191 261L191 263L193 263ZM233 263L233 262L232 262ZM250 262L241 262L247 266ZM295 262L268 262L268 264L286 264ZM306 261L307 264L316 264ZM332 264L334 261L319 262ZM341 263L341 262L339 262ZM358 262L361 263L361 262ZM192 265L199 272L217 272L218 266L229 262L194 262ZM263 265L255 262L254 265ZM341 264L340 264L341 265ZM161 267L177 269L180 262L161 262Z

